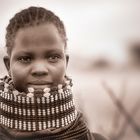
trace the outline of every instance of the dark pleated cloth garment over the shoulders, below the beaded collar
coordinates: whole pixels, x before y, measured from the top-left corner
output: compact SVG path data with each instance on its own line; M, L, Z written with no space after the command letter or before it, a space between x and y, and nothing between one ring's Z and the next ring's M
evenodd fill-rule
M0 126L0 140L106 140L97 133L90 133L86 127L82 114L69 127L42 132L20 133L16 130Z

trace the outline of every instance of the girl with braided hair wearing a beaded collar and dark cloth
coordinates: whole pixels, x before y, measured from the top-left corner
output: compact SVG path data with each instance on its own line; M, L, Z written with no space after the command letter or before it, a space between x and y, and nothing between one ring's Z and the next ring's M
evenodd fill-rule
M59 17L41 7L20 11L7 26L6 47L0 140L104 140L90 133L75 108Z

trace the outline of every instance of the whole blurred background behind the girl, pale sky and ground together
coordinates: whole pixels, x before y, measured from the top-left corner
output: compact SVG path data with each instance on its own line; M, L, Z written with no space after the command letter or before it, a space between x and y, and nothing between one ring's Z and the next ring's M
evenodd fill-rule
M77 107L91 131L110 140L140 139L139 0L0 0L0 76L5 28L28 6L54 11L66 26Z

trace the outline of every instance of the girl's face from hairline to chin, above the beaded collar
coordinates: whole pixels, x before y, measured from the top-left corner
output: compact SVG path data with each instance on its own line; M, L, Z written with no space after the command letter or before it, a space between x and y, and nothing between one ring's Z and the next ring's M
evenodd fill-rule
M43 89L64 82L66 55L64 41L53 24L20 29L15 37L9 63L15 88Z

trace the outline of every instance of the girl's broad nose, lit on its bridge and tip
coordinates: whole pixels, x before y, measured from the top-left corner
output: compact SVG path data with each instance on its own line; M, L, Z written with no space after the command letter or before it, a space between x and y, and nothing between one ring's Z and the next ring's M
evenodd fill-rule
M32 75L33 76L44 76L48 75L48 68L45 63L37 62L32 66Z

